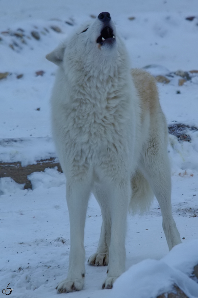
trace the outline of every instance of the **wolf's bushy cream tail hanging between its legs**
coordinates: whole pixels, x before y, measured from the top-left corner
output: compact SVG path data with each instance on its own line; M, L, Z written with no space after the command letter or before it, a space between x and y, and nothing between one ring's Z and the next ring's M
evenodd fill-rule
M143 214L147 211L154 198L148 181L139 171L136 171L131 179L132 197L129 202L129 212L131 214Z

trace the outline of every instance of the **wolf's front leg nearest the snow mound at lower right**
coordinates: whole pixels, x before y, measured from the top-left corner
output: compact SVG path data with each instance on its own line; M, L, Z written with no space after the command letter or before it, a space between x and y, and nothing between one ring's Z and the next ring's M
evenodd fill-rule
M112 288L114 281L125 271L125 234L126 215L131 193L129 181L122 181L110 187L111 204L111 242L109 247L109 264L107 278L102 288Z

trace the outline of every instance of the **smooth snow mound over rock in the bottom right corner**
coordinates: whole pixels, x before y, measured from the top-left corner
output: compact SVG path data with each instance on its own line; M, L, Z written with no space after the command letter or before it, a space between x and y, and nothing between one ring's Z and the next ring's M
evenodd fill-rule
M156 298L176 284L189 298L198 297L198 284L189 278L198 263L198 240L175 246L161 260L143 260L113 285L112 298Z

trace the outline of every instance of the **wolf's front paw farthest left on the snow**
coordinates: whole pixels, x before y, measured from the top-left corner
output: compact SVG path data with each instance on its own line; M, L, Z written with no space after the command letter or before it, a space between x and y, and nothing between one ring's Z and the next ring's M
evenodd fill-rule
M84 278L82 279L74 279L74 280L69 280L65 279L62 280L58 286L56 287L57 293L69 293L69 292L75 292L75 291L80 291L82 290L84 285Z

